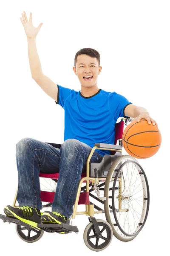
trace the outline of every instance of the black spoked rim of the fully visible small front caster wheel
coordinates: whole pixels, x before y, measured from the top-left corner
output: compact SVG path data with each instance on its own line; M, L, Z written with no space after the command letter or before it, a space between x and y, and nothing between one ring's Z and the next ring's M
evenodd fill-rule
M102 248L105 248L109 244L111 237L112 237L112 233L111 233L111 228L109 228L105 222L97 221L97 224L99 225L99 229L100 229L100 227L102 227L102 229L100 229L101 237L97 236L95 229L94 229L94 225L92 224L91 227L89 227L88 232L87 232L87 241L88 241L88 244L92 248L100 250ZM92 234L90 235L92 230L93 230L93 235ZM105 234L104 234L104 232L105 232ZM102 235L102 233L103 233L103 235ZM94 240L96 239L95 244L90 239L94 239Z

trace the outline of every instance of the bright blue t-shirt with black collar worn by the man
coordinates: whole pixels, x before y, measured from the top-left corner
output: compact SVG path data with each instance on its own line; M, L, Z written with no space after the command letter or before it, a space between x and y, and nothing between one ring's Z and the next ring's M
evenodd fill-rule
M79 140L91 148L95 143L114 144L115 124L119 117L125 116L129 102L124 96L99 89L90 97L80 90L75 91L58 85L56 104L65 110L64 141ZM109 150L96 149L101 156L111 154Z

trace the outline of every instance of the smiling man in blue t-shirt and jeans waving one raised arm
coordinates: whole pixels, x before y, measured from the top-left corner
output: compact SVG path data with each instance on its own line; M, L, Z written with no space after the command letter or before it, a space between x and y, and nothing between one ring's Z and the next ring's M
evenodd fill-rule
M42 73L35 44L41 26L33 27L32 14L29 22L26 13L22 15L32 78L65 110L64 143L60 149L32 138L24 138L17 143L19 208L8 205L4 212L32 227L37 227L41 221L57 225L69 224L79 180L82 172L86 171L86 161L94 143L114 144L114 128L116 120L121 116L133 117L138 122L144 118L153 125L157 123L145 108L133 105L116 92L107 92L97 87L102 67L99 52L95 49L80 49L75 55L73 70L81 84L79 92L51 81ZM101 162L105 154L110 154L110 151L95 150L91 162ZM51 212L40 212L39 172L59 172Z

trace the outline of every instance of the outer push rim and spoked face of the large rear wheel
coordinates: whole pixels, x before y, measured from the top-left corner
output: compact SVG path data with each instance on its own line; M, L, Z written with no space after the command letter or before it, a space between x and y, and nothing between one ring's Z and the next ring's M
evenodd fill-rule
M122 182L117 180L120 174ZM116 187L122 189L122 192L115 189ZM144 170L136 161L126 160L117 171L112 189L113 215L117 227L125 236L136 236L144 227L149 199L149 187ZM125 209L127 211L122 211Z

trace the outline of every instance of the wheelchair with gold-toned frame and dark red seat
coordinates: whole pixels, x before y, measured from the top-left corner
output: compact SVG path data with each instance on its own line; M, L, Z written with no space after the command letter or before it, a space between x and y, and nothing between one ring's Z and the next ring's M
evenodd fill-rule
M149 186L142 166L130 155L122 155L122 135L124 124L127 126L132 118L122 118L115 126L114 144L95 143L87 159L86 173L82 173L77 189L71 225L37 224L38 229L20 221L0 214L3 222L15 223L18 236L23 241L38 241L44 231L49 233L79 233L73 220L76 215L88 215L89 224L85 227L83 238L86 246L93 251L104 250L115 236L120 241L131 241L144 227L149 210ZM118 141L118 145L117 145ZM55 148L61 144L48 143ZM109 150L100 163L90 163L96 149ZM43 208L51 207L59 173L45 174L40 172L40 198L46 204ZM43 180L44 183L41 181ZM47 181L48 180L48 181ZM83 183L86 183L84 186ZM44 190L42 190L45 188ZM96 195L94 195L96 194ZM96 203L90 201L90 196ZM17 192L12 207L16 206ZM85 205L85 211L77 212L77 206ZM98 205L97 205L98 204ZM100 206L99 206L100 204ZM105 213L106 221L96 219L94 214ZM27 232L27 234L24 233ZM34 233L31 236L31 232Z

